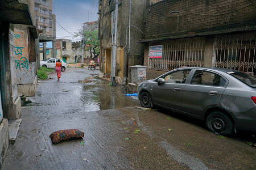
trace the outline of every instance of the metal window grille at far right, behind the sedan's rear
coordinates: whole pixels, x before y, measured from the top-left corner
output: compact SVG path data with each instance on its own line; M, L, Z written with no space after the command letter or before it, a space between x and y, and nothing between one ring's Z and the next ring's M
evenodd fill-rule
M213 66L255 74L255 41L256 32L216 36Z

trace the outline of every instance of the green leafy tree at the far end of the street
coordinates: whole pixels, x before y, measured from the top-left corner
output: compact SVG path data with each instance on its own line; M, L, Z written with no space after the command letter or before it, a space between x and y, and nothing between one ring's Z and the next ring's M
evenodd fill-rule
M81 36L81 46L85 50L89 50L90 56L98 56L100 54L100 40L98 39L98 30L96 31L84 31L80 29L79 32L76 33L76 36Z

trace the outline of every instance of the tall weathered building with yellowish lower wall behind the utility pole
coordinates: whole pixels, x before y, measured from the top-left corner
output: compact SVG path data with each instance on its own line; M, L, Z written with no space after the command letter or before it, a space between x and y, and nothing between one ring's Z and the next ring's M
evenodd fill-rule
M112 42L115 25L115 1L99 1L100 76L109 77L112 71ZM119 1L117 29L117 57L115 79L118 83L131 82L130 66L143 65L144 10L146 0L131 0L131 22L129 23L129 1ZM130 36L129 36L129 24ZM141 32L142 31L142 32ZM112 36L113 35L113 36ZM129 44L130 38L130 44Z

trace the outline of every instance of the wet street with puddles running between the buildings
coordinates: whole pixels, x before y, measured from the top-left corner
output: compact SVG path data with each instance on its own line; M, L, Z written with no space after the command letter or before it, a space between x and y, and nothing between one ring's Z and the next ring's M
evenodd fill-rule
M204 122L135 108L126 86L111 87L98 73L68 68L60 81L55 73L39 81L2 169L256 169L249 135L222 137ZM62 129L85 137L53 145L49 134Z

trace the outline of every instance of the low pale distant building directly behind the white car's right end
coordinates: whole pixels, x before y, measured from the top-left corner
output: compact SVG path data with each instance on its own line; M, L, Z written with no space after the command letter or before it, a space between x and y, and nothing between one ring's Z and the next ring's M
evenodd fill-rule
M72 50L72 40L57 39L57 58L65 63L75 63L75 55Z

